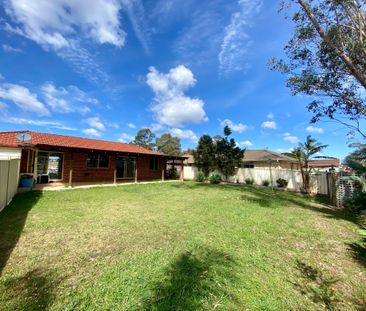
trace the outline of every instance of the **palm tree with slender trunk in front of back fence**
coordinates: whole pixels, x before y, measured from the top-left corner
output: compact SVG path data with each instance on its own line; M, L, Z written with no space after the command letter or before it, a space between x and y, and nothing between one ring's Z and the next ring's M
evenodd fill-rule
M290 154L287 154L295 158L299 163L304 190L308 193L310 192L310 173L313 169L312 167L309 167L309 160L326 147L328 146L322 145L309 135L304 143L299 143L298 147Z

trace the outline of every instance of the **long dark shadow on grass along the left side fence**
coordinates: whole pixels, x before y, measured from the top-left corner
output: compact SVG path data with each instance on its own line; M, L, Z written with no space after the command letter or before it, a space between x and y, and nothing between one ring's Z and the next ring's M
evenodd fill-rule
M10 205L0 212L0 276L18 243L29 211L41 195L42 192L39 191L18 194Z

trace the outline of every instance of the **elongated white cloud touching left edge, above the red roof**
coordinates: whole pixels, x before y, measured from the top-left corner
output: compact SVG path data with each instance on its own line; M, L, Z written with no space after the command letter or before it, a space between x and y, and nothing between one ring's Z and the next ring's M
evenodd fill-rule
M18 84L3 84L0 86L0 98L16 104L25 111L34 112L40 116L49 115L48 109L40 102L37 95Z

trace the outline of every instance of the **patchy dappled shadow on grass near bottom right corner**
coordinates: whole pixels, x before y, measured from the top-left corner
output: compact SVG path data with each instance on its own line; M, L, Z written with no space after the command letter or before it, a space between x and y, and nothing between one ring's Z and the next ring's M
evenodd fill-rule
M326 310L335 310L336 295L332 288L338 282L335 278L327 278L322 271L297 261L300 277L294 283L295 288L316 304L321 304Z

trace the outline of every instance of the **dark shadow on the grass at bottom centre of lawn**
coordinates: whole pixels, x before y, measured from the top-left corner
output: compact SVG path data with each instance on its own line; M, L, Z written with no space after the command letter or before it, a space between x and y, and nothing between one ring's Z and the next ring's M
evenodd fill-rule
M233 259L218 251L185 252L167 269L166 278L159 281L143 310L197 310L203 305L215 308L220 300L236 299L225 290L235 280Z

